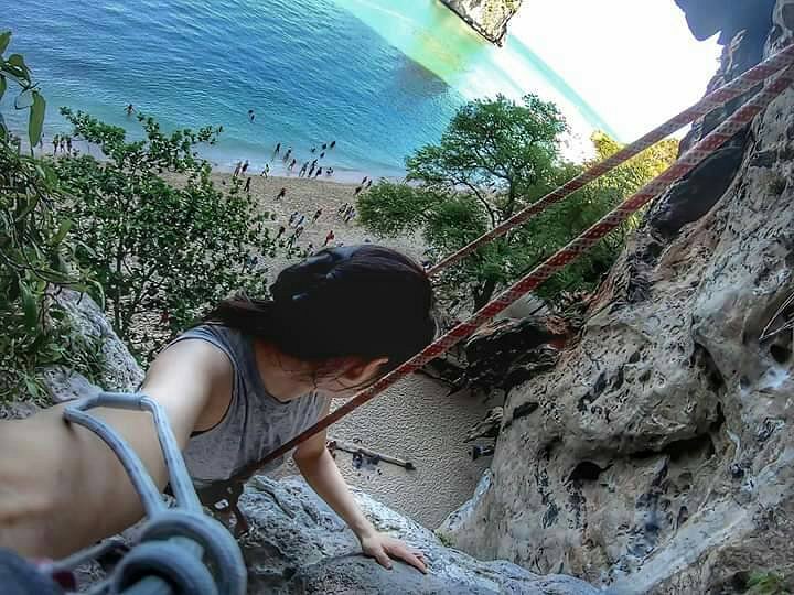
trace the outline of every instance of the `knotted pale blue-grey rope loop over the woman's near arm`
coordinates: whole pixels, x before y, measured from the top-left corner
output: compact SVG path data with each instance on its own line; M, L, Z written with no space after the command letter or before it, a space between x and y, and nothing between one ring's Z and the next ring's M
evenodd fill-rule
M169 507L143 463L107 423L87 413L95 408L148 411L152 415L175 505ZM239 547L226 528L204 515L165 411L146 394L100 392L75 401L64 419L99 436L121 462L146 512L139 540L109 576L89 595L244 595L246 567ZM51 576L116 550L119 539L106 540L41 569ZM212 571L211 571L212 569Z

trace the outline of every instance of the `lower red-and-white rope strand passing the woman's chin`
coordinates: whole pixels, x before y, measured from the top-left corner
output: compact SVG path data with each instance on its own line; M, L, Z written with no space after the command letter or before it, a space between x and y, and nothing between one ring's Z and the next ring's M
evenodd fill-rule
M758 76L760 78L745 78L743 83L739 83L739 80L737 80L731 84L734 85L731 90L726 91L726 88L723 88L716 93L723 93L725 95L720 95L720 97L725 100L729 100L736 96L734 91L737 91L737 94L742 93L742 90L740 89L744 89L744 85L750 85L750 82L752 82L752 85L748 88L752 88L753 86L758 85L760 80L763 80L764 78L780 71L781 67L785 67L792 64L792 62L794 62L794 46L784 50L783 52L773 56L773 58L774 60L770 58L770 61L766 61L761 65L763 66L763 69L754 69L755 74L753 75L753 77ZM762 76L762 74L765 74L765 76ZM793 82L794 66L790 66L785 68L782 73L774 76L774 78L772 78L772 80L770 80L759 94L752 97L744 106L742 106L737 112L734 112L730 118L722 122L716 130L713 130L705 139L698 142L694 148L691 148L684 155L682 155L682 158L678 159L678 161L676 161L668 170L666 170L658 177L650 182L636 194L623 202L620 206L607 214L601 220L596 223L578 238L568 244L568 246L558 250L544 263L536 267L532 272L517 281L509 289L504 291L497 298L495 298L485 306L475 312L469 320L454 326L452 329L450 329L444 335L428 345L425 349L410 358L408 361L377 380L371 387L358 392L358 394L347 401L344 405L340 407L334 412L330 413L304 432L301 432L296 437L281 445L279 448L267 455L262 461L250 466L248 470L253 472L256 467L260 467L269 463L270 461L288 453L301 442L313 436L318 432L322 432L328 426L337 422L340 419L342 419L353 410L360 408L361 405L363 405L364 403L366 403L367 401L396 383L398 380L415 372L416 370L425 366L428 361L431 361L439 355L450 349L452 346L457 345L462 339L471 336L483 323L492 320L496 314L505 310L516 300L521 299L528 292L536 289L549 277L555 274L557 271L569 264L571 261L573 261L584 252L587 252L604 236L610 234L623 221L625 221L633 213L640 210L654 197L665 192L674 182L677 182L690 171L693 171L699 163L701 163L706 158L711 155L717 149L719 149L729 139L731 139L737 132L741 131L745 126L748 126L748 123L750 123L753 118L755 118L755 116L763 111L772 102L772 100L781 93L783 93L786 88L788 88ZM729 85L729 87L731 85ZM715 94L709 96L712 98L710 100L717 101L717 99L713 99L713 96ZM700 109L705 108L697 107L697 110ZM687 116L687 118L689 116ZM676 118L670 121L674 120L676 120ZM661 131L652 132L646 138L654 138L655 134L661 133ZM637 147L637 143L634 143L634 147ZM634 150L635 149L633 149L632 151ZM626 154L629 153L624 153L624 160L629 159ZM614 161L611 160L608 160L608 162L614 163ZM612 166L614 166L614 164ZM601 169L597 166L594 170L600 171ZM591 172L593 170L591 170ZM603 173L603 171L601 173ZM588 173L584 175L592 174ZM552 193L549 196L552 195L556 195L556 193ZM533 207L535 205L533 205ZM519 225L519 223L514 223L513 226ZM447 260L449 261L450 259Z

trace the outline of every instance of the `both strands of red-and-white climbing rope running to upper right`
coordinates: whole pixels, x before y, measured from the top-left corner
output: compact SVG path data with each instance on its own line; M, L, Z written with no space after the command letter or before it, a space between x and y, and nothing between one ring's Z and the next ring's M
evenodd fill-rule
M439 355L449 350L452 346L457 345L462 339L471 336L483 323L489 322L500 312L504 311L508 305L526 295L528 292L536 289L544 281L549 279L557 271L569 264L571 261L587 252L596 244L598 244L604 236L614 230L623 221L625 221L633 213L636 213L656 196L664 193L673 183L677 182L689 172L691 172L699 163L706 158L711 155L717 149L722 147L729 139L740 132L747 127L761 111L763 111L772 100L788 88L794 82L794 45L786 47L779 52L774 56L764 61L759 66L748 71L737 80L726 85L721 89L710 94L706 99L698 102L696 106L689 108L682 115L673 118L667 123L663 125L653 132L646 134L640 141L631 144L623 151L608 159L603 163L594 166L588 172L583 173L576 180L572 180L561 188L552 192L538 203L535 203L529 208L515 215L493 231L485 234L482 238L473 241L469 246L462 248L454 255L444 259L438 266L436 266L431 272L438 272L442 268L451 266L457 262L472 250L476 249L478 246L491 241L495 237L504 235L508 229L521 225L526 221L529 217L537 215L544 208L547 208L550 204L560 201L565 196L571 194L575 190L581 187L587 182L594 180L614 169L620 163L623 163L631 156L635 155L643 149L650 147L657 140L661 140L669 132L674 132L682 126L689 123L698 115L706 115L713 108L733 99L747 90L752 89L760 83L766 80L766 85L755 96L749 99L738 111L736 111L730 118L723 121L718 128L710 132L706 138L700 140L695 147L682 155L669 169L663 172L658 177L646 184L636 194L627 198L612 212L607 214L601 220L596 223L578 238L572 240L568 246L558 250L555 255L548 258L545 262L536 267L523 279L517 281L509 289L504 291L497 298L489 302L485 306L476 311L470 318L458 324L441 337L436 339L433 343L428 345L419 354L410 358L408 361L394 369L386 376L378 379L371 387L358 392L354 398L347 401L345 404L316 422L308 430L301 432L296 437L286 442L276 451L268 454L264 459L258 463L248 465L238 474L242 476L250 476L258 468L266 465L267 463L287 454L289 451L298 446L301 442L313 436L318 432L322 432L330 425L336 423L339 420L360 408L367 401L372 400L378 393L383 392L391 385L396 383L401 378L415 372L420 369L427 363L437 358ZM782 72L780 72L782 71ZM776 74L779 73L779 74ZM770 77L773 77L770 79ZM675 128L673 127L677 122ZM651 141L651 139L654 139ZM620 155L620 158L619 158Z

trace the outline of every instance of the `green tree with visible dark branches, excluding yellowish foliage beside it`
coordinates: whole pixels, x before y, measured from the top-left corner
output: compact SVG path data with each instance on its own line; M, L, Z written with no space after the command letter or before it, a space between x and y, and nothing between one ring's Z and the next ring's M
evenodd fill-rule
M382 183L358 201L362 223L378 235L421 229L436 255L460 248L508 219L559 176L557 107L527 95L475 100L452 118L438 144L406 160L408 184ZM511 234L472 255L440 279L449 294L464 289L474 306L527 264L523 236Z

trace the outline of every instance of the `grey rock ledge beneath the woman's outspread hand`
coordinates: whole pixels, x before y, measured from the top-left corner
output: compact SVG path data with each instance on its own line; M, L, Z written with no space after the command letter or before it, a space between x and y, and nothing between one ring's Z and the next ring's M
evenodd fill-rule
M576 578L540 576L505 561L480 562L446 548L429 530L354 490L380 531L425 553L427 575L395 563L387 571L365 559L355 536L300 478L254 478L240 499L251 526L240 544L249 593L297 594L559 594L597 591Z

